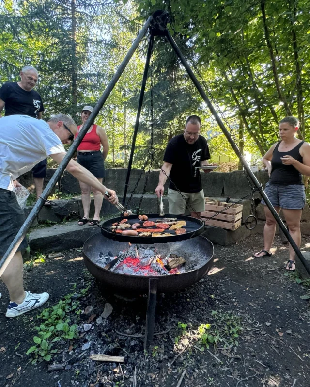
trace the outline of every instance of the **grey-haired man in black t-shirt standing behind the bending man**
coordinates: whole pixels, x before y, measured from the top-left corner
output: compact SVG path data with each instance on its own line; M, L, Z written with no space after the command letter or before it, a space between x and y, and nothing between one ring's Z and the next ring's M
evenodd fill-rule
M0 88L0 117L5 107L5 116L26 114L42 118L44 106L39 93L33 90L38 81L38 72L32 66L22 68L19 82L6 82ZM47 159L32 168L37 199L42 194L44 178L47 176Z

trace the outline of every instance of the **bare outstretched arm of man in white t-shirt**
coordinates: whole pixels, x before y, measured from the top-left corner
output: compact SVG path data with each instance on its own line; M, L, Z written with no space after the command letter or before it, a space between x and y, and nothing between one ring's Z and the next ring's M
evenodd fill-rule
M65 153L55 153L53 155L49 155L57 164L60 164L66 154ZM66 166L66 170L71 173L74 177L76 177L82 183L85 183L94 189L100 191L103 194L103 197L109 202L116 204L118 202L118 197L115 191L110 190L105 185L99 183L98 179L93 176L91 172L89 172L86 168L82 167L74 160L70 160L68 165ZM104 194L106 191L111 194L110 198Z

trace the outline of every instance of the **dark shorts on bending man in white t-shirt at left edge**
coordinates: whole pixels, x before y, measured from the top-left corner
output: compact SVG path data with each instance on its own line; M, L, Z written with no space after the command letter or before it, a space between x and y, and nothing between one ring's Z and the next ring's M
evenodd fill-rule
M19 207L13 191L0 188L0 257L4 255L25 220L24 211ZM17 251L27 247L24 239Z

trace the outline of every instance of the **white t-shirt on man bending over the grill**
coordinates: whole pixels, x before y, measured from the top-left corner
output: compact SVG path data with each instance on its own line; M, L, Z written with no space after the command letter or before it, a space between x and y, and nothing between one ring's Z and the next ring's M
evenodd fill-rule
M45 121L19 114L0 118L0 188L14 191L13 180L47 156L64 152Z

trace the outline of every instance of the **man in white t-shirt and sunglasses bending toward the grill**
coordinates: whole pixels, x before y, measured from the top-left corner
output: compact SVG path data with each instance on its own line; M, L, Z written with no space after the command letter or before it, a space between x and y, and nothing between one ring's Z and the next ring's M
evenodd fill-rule
M77 133L72 118L58 114L47 123L27 115L11 115L0 119L0 257L4 255L24 222L24 212L19 207L15 187L16 178L39 161L50 156L58 164L65 156L62 144L68 144ZM115 191L104 185L76 161L71 160L66 170L103 194L107 190L112 203L118 199ZM105 198L107 198L104 195ZM48 293L32 294L24 291L23 260L20 250L27 246L24 240L1 277L10 294L6 317L15 317L43 305Z

